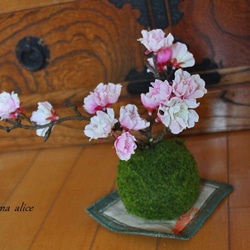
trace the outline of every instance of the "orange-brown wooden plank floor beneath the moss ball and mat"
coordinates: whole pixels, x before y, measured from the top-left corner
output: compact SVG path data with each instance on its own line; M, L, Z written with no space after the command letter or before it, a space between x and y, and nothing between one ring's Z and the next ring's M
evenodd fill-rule
M188 241L118 234L86 212L115 188L112 145L0 154L0 249L247 250L250 245L250 131L186 138L201 177L234 185ZM22 203L33 211L14 211Z

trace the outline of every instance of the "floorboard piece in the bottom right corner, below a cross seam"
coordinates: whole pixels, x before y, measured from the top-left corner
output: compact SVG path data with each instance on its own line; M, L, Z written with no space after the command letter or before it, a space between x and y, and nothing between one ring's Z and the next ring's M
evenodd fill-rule
M250 208L239 207L230 209L230 249L247 250L250 239Z

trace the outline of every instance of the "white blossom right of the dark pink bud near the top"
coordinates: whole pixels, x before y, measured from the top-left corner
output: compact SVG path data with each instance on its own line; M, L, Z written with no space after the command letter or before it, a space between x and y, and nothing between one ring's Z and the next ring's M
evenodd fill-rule
M187 68L194 66L194 57L187 49L184 43L174 43L171 47L172 50L172 67L176 68Z

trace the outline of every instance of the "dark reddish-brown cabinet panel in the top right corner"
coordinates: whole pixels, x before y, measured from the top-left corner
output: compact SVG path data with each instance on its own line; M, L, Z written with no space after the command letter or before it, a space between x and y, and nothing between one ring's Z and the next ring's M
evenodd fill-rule
M184 15L173 34L188 44L197 63L208 58L219 68L249 65L247 1L182 1L179 9Z

